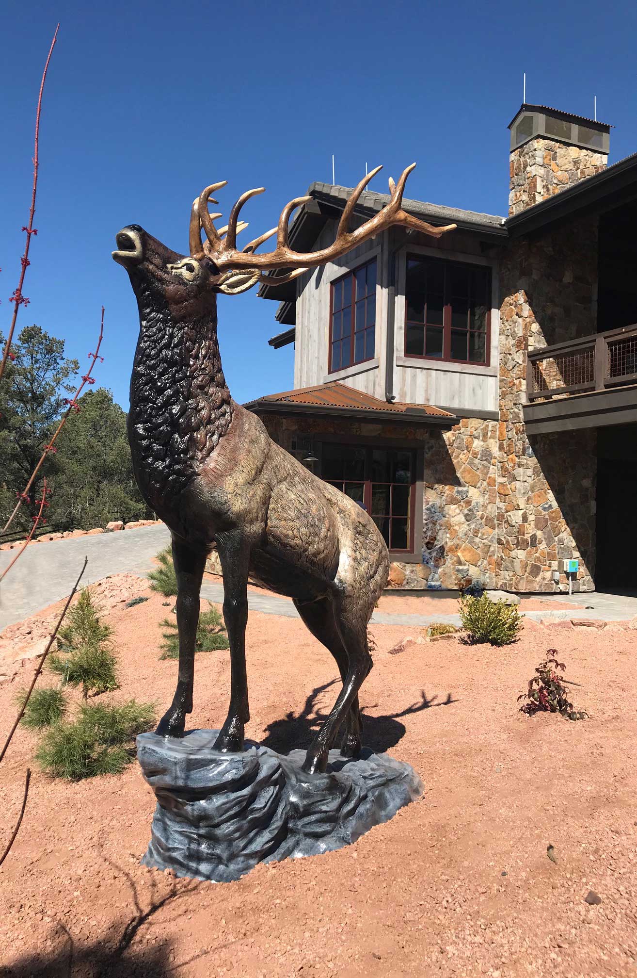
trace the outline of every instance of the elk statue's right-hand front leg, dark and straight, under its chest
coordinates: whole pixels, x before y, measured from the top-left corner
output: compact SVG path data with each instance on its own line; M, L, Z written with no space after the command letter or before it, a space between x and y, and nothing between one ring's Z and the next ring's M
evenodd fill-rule
M217 536L217 550L224 575L224 619L230 642L231 694L228 717L215 741L215 749L224 753L239 753L243 750L245 724L250 719L245 672L250 545L239 533L220 533Z

